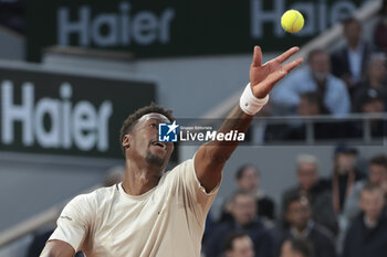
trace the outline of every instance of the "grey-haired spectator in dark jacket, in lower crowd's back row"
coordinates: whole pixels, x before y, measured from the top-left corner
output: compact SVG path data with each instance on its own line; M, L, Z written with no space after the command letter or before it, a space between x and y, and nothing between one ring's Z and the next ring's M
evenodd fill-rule
M283 210L289 197L296 194L306 196L312 207L313 219L336 234L338 224L333 210L332 194L327 191L326 180L318 179L317 158L312 154L300 154L296 173L299 184L283 193Z

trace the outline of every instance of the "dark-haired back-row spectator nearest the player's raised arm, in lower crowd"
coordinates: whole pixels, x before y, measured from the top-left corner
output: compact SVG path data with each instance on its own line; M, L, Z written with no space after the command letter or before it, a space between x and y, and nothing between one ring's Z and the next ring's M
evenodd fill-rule
M261 174L257 167L252 164L245 164L238 169L236 174L236 180L239 190L247 191L257 199L257 215L260 218L265 218L269 221L274 219L275 205L273 200L271 200L263 190L260 189ZM230 212L224 208L221 214L221 221L229 219L231 217Z

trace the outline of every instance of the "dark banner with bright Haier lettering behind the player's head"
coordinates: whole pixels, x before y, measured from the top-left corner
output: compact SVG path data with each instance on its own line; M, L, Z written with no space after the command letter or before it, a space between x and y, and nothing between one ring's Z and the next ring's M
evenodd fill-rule
M121 158L119 128L149 82L0 68L0 150Z

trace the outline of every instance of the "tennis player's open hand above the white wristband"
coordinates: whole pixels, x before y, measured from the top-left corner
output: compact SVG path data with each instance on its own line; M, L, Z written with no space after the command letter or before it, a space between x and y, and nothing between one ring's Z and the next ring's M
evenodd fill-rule
M290 56L299 52L299 47L292 47L261 65L262 51L260 46L254 46L253 61L250 66L250 84L253 95L257 98L264 98L287 73L299 66L303 58L296 58L291 63L282 65Z

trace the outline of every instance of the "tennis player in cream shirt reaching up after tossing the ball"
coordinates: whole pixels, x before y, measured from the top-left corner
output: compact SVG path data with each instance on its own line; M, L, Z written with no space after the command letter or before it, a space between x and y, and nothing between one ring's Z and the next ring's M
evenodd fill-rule
M297 51L292 47L261 65L261 49L254 47L250 83L218 132L247 131L274 84L302 63L283 64ZM209 141L192 159L165 172L174 144L157 141L157 127L172 120L170 111L151 105L124 121L124 181L74 197L41 256L71 257L77 250L87 257L200 256L206 216L238 141Z

